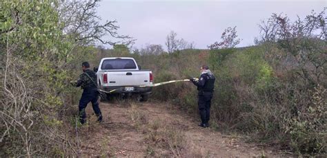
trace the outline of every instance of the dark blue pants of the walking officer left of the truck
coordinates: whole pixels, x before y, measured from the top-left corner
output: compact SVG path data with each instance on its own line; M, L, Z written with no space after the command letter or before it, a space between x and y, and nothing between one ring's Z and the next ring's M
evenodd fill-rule
M86 122L86 113L85 109L88 106L89 102L92 102L93 111L98 117L98 121L102 121L101 110L99 108L98 100L98 92L97 89L93 90L84 90L81 96L81 100L79 100L79 120L82 124Z

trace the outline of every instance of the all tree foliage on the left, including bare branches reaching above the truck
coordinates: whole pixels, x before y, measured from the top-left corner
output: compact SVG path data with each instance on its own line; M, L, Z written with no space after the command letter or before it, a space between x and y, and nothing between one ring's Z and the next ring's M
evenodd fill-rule
M77 126L66 115L74 113L70 96L77 93L68 82L78 75L76 65L91 59L92 45L132 43L117 34L117 21L100 23L98 2L1 2L1 157L79 156L78 129L62 130L72 128L63 124L69 120ZM104 40L106 34L117 41Z

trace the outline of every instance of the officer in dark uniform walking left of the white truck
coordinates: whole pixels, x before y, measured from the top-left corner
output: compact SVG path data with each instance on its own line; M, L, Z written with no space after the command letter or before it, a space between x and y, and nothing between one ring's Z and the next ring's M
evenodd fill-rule
M79 76L79 80L72 82L75 87L81 87L83 93L81 100L79 100L79 121L81 124L86 123L85 109L89 102L92 102L92 108L98 117L98 121L102 121L101 110L99 108L97 91L97 75L95 71L90 70L90 64L88 62L82 63L83 74Z

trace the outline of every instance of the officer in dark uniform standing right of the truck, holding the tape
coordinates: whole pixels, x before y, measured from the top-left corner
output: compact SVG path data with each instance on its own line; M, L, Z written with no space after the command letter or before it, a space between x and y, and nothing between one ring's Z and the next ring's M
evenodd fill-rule
M212 94L215 88L215 76L209 70L209 67L203 65L201 67L201 76L199 80L196 78L190 78L190 81L197 86L198 93L198 105L199 113L201 117L201 127L209 127L210 120L210 104L212 99Z

